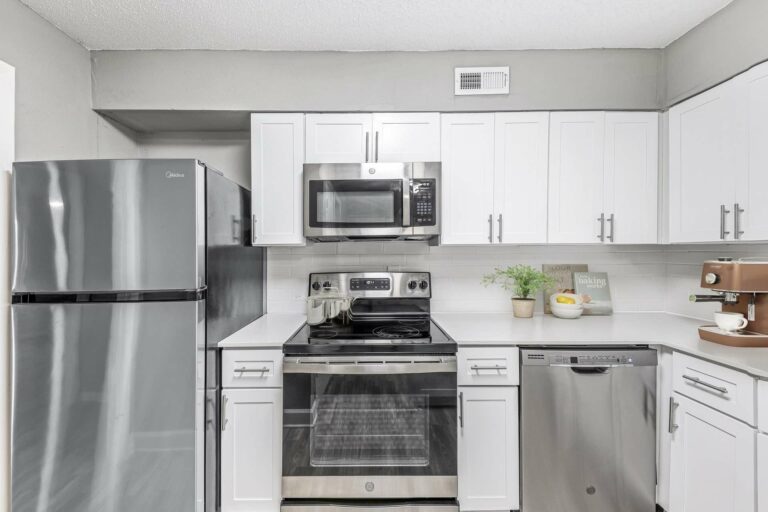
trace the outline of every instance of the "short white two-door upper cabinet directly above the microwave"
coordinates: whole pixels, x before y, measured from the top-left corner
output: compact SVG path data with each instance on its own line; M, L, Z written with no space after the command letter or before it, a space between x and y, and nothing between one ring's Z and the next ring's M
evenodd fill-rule
M307 114L307 163L439 161L440 114Z

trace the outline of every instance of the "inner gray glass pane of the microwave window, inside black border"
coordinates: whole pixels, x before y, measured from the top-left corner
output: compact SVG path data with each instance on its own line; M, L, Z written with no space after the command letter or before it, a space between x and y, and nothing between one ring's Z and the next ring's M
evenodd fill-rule
M318 192L317 220L323 224L391 224L395 221L395 193Z

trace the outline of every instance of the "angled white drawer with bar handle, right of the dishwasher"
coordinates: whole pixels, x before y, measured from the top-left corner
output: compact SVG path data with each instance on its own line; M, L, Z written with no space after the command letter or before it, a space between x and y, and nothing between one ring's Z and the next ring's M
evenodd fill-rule
M672 361L672 386L677 393L755 425L753 377L680 352Z

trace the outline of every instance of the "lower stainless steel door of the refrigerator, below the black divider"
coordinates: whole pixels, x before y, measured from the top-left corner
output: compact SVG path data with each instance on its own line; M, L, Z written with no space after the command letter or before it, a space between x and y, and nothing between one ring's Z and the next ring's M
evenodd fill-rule
M205 302L12 307L12 511L203 510Z

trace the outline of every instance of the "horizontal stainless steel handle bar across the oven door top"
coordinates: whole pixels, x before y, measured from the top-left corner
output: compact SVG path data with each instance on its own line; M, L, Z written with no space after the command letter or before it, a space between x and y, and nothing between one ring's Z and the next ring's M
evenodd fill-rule
M455 358L430 358L402 362L286 360L283 363L283 373L309 373L322 375L401 375L453 372L456 372Z

